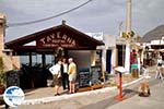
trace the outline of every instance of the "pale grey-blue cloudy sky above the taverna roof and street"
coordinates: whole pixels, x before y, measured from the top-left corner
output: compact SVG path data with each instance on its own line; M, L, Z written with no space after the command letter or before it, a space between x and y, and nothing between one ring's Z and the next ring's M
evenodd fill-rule
M87 0L0 0L0 13L7 15L7 24L30 22L59 14ZM132 31L143 36L164 24L164 0L132 0ZM126 31L127 0L92 0L86 5L68 14L25 26L9 26L5 41L23 37L56 25L62 20L84 33L118 35L119 23Z

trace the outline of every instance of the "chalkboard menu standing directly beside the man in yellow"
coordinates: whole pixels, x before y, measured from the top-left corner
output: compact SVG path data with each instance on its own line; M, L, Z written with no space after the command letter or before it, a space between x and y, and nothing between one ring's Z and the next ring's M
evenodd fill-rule
M79 87L90 86L90 69L83 68L79 70Z

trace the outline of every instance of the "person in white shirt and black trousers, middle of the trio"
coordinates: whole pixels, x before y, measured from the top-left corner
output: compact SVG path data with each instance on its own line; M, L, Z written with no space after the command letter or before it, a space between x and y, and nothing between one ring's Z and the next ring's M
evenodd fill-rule
M69 89L69 75L68 75L68 63L67 59L62 59L63 73L62 74L62 87L63 89Z

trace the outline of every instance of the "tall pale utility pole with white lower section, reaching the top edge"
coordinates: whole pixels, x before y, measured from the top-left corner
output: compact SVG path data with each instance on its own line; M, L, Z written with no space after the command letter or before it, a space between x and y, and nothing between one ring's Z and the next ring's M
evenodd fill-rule
M131 0L127 0L127 34L131 32ZM126 41L126 61L125 68L129 72L130 70L130 41L131 37Z

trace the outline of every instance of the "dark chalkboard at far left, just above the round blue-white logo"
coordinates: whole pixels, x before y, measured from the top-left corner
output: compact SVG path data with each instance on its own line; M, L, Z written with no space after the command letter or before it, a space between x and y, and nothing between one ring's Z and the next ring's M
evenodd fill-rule
M11 70L7 72L7 87L9 86L20 86L19 72Z

